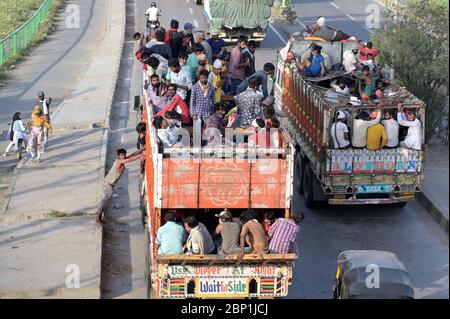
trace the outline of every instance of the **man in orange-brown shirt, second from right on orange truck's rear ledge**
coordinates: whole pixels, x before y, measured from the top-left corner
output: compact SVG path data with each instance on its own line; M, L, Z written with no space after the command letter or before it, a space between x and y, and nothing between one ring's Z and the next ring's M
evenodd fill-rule
M267 254L269 245L263 226L256 219L254 211L247 210L241 214L242 231L240 235L241 253L239 259L245 254L245 243L247 242L251 248L251 253L264 255Z

